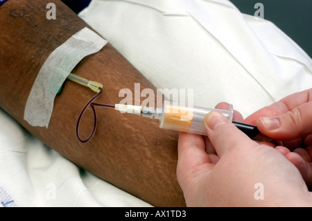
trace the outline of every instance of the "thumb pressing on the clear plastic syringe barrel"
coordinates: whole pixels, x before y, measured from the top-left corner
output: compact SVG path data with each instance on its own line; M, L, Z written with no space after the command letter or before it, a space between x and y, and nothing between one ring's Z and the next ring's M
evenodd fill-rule
M205 116L205 127L209 141L216 149L219 157L234 148L243 148L255 144L219 112L210 112ZM246 145L242 145L242 143Z

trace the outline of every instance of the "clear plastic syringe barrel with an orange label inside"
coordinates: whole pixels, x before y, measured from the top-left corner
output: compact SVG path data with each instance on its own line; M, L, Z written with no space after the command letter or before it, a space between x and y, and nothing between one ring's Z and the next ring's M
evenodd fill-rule
M233 107L232 105L229 106L229 109L225 110L179 105L178 103L165 101L162 108L162 117L159 119L160 127L193 134L207 135L204 125L205 116L209 112L218 111L229 119L229 121L232 121Z

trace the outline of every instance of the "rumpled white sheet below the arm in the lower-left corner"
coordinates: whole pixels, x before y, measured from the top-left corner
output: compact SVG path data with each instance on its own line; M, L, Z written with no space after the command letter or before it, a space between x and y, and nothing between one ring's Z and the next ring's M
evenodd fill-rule
M150 206L78 168L0 109L0 207Z

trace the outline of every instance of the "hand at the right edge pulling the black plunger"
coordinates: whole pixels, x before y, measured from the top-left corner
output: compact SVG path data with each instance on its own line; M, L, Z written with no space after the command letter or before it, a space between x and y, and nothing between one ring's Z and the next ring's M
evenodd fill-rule
M312 89L292 94L255 112L245 123L257 124L260 132L282 141L277 146L312 187Z

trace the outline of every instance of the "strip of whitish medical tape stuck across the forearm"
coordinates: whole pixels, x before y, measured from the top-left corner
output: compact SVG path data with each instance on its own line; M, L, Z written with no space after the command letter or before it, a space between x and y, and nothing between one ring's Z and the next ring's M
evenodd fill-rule
M107 41L89 28L83 28L49 55L28 96L24 120L30 125L48 127L56 94L67 76L85 56L96 53Z

